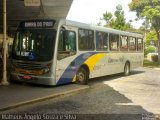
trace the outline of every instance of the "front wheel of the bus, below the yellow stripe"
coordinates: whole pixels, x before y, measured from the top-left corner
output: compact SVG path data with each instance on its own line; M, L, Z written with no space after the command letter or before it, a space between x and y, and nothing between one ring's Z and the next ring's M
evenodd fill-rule
M76 82L81 85L88 84L88 74L87 74L87 71L83 67L79 68L77 72Z

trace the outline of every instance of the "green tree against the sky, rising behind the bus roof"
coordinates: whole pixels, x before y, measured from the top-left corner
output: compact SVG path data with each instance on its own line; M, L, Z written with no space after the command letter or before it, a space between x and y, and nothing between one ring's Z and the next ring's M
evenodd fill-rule
M106 12L103 14L103 20L106 21L106 27L111 27L118 30L127 30L130 27L129 23L126 23L124 18L124 11L121 5L116 6L116 11L114 12L115 19L112 13Z

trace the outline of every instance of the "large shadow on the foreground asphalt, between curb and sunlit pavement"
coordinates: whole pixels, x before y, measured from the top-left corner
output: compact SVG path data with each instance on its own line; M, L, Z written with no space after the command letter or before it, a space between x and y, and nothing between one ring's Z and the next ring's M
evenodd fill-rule
M142 120L144 115L152 115L105 84L74 95L64 95L3 112L3 114L8 113L49 115L50 117L74 115L76 120Z

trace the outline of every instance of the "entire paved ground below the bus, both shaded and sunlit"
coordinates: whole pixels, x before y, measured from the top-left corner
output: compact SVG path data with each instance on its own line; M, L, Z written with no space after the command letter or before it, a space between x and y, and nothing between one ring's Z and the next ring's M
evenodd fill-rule
M30 103L36 98L39 98L37 101L41 101L41 97L46 97L47 99L43 102L34 102L34 104L29 104L28 102L28 105L22 104L24 105L22 107L17 105L15 109L9 109L12 107L8 107L7 109L2 109L2 113L4 115L8 113L36 114L42 118L49 114L48 117L50 115L58 115L57 117L60 117L59 115L62 115L61 117L66 117L63 115L73 115L73 117L92 118L94 120L104 118L106 120L160 120L159 74L160 68L139 68L125 77L122 74L117 74L92 79L89 81L88 86L69 84L44 87L30 84L14 84L9 86L11 94L6 92L9 98L5 100L9 100L10 103L14 100L12 98L17 98L17 96L23 101L30 99ZM7 89L7 86L0 86L0 94L5 93L1 92L1 90L7 91ZM23 95L21 96L20 93ZM59 97L55 97L54 94L58 93L61 93L57 95Z

